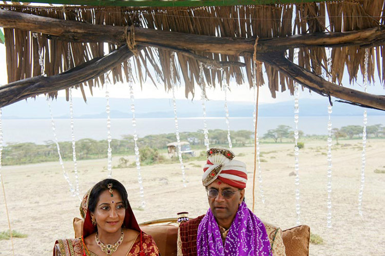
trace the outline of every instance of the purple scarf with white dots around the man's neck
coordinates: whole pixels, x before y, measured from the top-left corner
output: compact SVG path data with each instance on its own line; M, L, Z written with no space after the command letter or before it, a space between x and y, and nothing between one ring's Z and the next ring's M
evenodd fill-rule
M198 256L256 256L271 255L266 228L245 202L239 206L223 246L219 226L208 209L199 223L197 235Z

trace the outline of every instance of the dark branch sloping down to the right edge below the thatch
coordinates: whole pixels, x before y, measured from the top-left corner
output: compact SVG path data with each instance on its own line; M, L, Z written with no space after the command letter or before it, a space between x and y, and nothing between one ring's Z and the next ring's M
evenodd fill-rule
M279 70L279 72L283 72L304 87L323 96L333 96L346 101L347 103L359 105L361 107L385 110L385 95L370 94L330 83L322 77L287 60L287 58L284 57L283 52L263 54L259 57L261 61L272 65Z

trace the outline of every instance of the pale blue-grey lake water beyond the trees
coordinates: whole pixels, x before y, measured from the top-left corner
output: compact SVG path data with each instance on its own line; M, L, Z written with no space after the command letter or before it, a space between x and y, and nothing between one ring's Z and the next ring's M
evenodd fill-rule
M54 140L51 120L48 119L6 119L3 120L4 143L33 142L44 144L45 141ZM69 119L54 120L57 139L71 141ZM202 118L180 118L179 131L197 131L203 129ZM362 125L362 116L334 116L333 128L347 125ZM384 116L368 116L368 125L385 124ZM294 117L260 117L258 119L258 133L262 136L268 129L275 129L278 125L288 125L294 128ZM207 118L209 129L226 130L223 117ZM105 119L75 119L75 139L90 138L104 140L107 137ZM328 116L300 116L299 129L305 134L327 134ZM252 117L230 118L230 130L254 131ZM122 139L122 135L132 134L131 119L112 119L111 136L113 139ZM174 133L174 119L137 119L137 133L140 137L149 134Z

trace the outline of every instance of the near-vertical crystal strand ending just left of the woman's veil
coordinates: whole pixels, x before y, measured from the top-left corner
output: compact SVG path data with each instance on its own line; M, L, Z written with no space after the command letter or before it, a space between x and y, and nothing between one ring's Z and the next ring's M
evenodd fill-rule
M71 69L71 48L69 43L67 43L67 60L68 60L68 69ZM71 140L72 140L72 161L73 161L73 171L75 174L75 193L76 193L76 196L78 196L79 200L82 200L79 195L78 161L76 161L75 132L74 132L74 125L73 125L72 88L69 88L68 94L69 94L69 116L70 116Z

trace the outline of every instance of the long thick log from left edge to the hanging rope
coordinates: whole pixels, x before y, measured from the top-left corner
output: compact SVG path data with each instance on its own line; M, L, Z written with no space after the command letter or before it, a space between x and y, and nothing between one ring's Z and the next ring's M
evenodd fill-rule
M0 27L17 28L51 35L71 42L107 42L123 45L125 27L92 25L76 21L43 17L33 14L0 9ZM255 40L234 40L233 38L195 35L156 29L135 28L135 41L153 46L172 47L187 51L207 51L239 55L243 51L253 52Z

